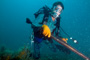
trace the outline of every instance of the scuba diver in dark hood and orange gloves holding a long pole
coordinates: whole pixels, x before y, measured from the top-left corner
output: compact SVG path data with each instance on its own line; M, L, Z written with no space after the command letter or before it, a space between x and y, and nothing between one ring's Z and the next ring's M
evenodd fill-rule
M48 41L52 45L50 48L53 48L53 51L56 51L55 46L58 47L58 45L53 44L51 35L59 37L67 43L68 39L63 38L60 35L60 14L63 10L63 3L58 1L53 4L51 9L47 6L39 9L39 11L34 14L34 22L31 22L29 18L26 18L26 23L31 24L33 29L34 53L32 54L35 59L40 58L40 43L42 41Z

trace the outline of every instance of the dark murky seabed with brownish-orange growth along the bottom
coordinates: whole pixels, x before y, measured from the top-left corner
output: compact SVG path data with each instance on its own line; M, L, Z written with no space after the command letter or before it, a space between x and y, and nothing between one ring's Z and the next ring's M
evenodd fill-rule
M80 56L72 54L67 54L64 52L58 51L58 53L43 53L41 54L40 59L34 59L31 56L31 50L29 46L20 47L17 51L13 51L1 47L0 50L0 60L84 60Z

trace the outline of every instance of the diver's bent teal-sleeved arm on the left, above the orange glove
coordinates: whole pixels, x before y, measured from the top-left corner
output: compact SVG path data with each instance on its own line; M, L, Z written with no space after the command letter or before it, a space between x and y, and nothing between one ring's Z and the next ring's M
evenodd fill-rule
M30 20L29 18L26 18L26 23L31 24L31 27L33 28L34 32L41 31L42 30L42 24L39 24L43 20L43 14L40 14L35 20Z

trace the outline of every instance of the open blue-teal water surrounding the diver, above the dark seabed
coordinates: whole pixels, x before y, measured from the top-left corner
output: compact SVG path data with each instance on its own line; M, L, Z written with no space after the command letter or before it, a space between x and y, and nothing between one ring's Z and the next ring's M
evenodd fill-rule
M65 6L61 14L62 28L79 42L68 40L68 44L90 58L90 0L0 0L0 47L17 50L30 43L31 27L25 19L34 20L33 14L39 8L51 7L56 1Z

